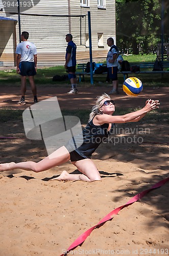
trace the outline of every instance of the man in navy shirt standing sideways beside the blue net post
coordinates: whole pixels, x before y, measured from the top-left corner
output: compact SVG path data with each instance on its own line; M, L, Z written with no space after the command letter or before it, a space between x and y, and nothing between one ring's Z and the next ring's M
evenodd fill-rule
M67 94L76 94L77 91L77 78L76 78L76 45L72 41L72 35L66 35L66 41L68 42L68 46L66 48L66 56L65 56L65 69L68 72L68 77L71 82L71 90Z

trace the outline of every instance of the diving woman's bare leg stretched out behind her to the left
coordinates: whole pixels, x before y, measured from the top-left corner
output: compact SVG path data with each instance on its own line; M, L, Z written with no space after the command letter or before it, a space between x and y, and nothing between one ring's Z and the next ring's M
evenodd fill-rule
M60 147L58 150L54 151L48 157L45 157L38 163L33 161L20 162L20 163L5 163L0 164L1 170L13 170L13 169L23 169L23 170L33 170L35 173L43 172L54 166L60 165L70 160L70 154L65 146Z

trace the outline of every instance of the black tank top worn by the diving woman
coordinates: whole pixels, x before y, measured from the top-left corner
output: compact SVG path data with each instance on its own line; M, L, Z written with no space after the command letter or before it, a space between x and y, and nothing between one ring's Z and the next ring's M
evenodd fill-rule
M114 124L111 124L111 128L108 131L108 123L102 125L95 125L93 119L87 124L82 133L72 138L66 145L68 151L75 151L83 158L90 158L95 152L96 148L102 141L107 139L110 133L112 133ZM81 139L83 143L81 144ZM81 144L78 146L78 141ZM75 149L74 149L75 148Z

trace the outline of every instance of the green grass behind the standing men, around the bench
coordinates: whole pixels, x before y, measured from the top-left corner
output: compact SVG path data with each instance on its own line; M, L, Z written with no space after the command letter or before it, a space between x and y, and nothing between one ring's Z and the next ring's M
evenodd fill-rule
M124 55L124 60L128 60L129 62L154 62L156 59L156 55ZM62 84L64 87L69 87L70 82L62 81L62 82L55 82L52 81L54 75L65 75L65 68L63 66L57 67L46 67L43 69L37 70L37 75L35 76L35 83L41 87L57 87ZM119 74L119 83L123 83L123 75ZM143 82L144 87L168 87L168 74L137 74L137 77ZM95 86L103 86L107 87L110 84L106 84L106 75L94 75L94 84ZM11 70L3 70L0 71L0 87L20 87L20 76L16 73L15 69ZM90 83L90 76L85 76L85 82L81 82L79 86L82 87L89 87L91 86Z

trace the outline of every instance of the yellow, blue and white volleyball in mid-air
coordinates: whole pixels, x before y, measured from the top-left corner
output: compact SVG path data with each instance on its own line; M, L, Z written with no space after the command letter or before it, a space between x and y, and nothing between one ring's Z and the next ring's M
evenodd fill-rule
M137 96L143 91L142 81L136 77L128 77L123 83L123 91L128 96Z

